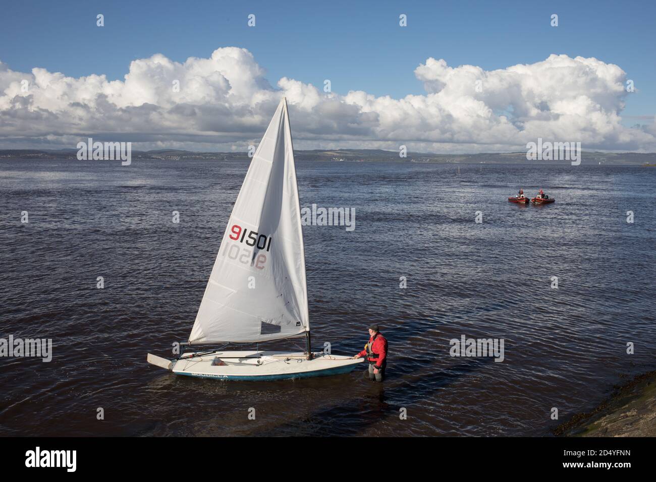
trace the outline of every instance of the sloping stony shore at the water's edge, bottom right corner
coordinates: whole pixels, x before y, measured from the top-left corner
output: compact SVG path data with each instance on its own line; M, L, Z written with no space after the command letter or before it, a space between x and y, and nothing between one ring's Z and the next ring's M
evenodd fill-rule
M610 397L589 412L557 426L557 437L656 437L656 370L615 385Z

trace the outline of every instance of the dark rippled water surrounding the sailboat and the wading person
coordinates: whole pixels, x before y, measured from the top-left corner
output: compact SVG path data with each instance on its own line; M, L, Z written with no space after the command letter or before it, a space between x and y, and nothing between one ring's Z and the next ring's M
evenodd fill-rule
M562 421L656 364L656 169L299 162L302 206L356 209L352 232L304 228L315 348L356 353L375 321L388 379L148 365L188 336L247 167L0 161L0 337L54 345L51 363L0 358L1 434L548 435L552 407ZM519 187L556 203L508 203ZM462 334L503 338L504 361L449 356Z

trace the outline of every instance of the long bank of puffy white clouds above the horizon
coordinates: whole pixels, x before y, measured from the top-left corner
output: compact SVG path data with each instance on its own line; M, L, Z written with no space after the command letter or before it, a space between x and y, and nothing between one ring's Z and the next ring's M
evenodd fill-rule
M134 60L123 81L20 73L0 62L0 147L72 148L92 136L135 149L246 150L286 96L298 148L522 150L541 137L656 150L653 123L621 124L626 73L596 58L551 55L492 71L428 58L415 75L426 93L394 99L326 94L287 77L274 87L251 52L236 47L184 63L161 54Z

